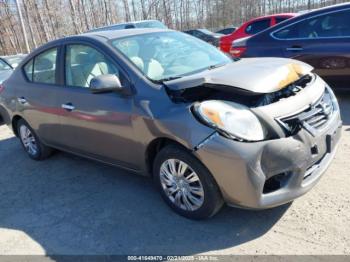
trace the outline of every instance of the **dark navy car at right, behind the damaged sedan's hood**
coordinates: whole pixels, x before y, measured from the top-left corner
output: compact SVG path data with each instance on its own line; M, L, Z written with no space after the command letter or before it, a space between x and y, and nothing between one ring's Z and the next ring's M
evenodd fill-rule
M236 57L287 57L315 68L334 87L350 87L350 4L318 9L234 43Z

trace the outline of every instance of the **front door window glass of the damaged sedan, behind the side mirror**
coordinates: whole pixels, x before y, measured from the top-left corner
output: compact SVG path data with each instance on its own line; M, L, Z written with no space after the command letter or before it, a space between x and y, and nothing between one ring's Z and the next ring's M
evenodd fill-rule
M119 77L118 69L105 55L87 45L73 44L66 47L67 86L89 88L91 79L106 74Z

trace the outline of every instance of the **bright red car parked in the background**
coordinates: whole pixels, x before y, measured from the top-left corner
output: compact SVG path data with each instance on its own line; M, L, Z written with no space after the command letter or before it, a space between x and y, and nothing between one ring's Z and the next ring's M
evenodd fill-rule
M255 35L271 26L274 26L296 15L297 14L294 14L294 13L285 13L285 14L275 14L275 15L261 16L258 18L254 18L244 23L240 28L238 28L232 34L221 37L220 50L225 53L229 53L232 42L234 40Z

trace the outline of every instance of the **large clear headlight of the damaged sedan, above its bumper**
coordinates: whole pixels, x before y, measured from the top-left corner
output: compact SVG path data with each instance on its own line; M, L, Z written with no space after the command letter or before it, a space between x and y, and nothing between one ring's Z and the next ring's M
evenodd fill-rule
M196 104L194 112L207 125L238 140L260 141L265 138L259 119L245 106L210 100Z

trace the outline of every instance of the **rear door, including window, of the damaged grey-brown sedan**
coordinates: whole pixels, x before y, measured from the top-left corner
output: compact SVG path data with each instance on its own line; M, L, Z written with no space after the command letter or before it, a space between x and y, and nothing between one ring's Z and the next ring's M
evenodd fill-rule
M16 86L17 110L44 143L55 145L59 139L59 114L56 94L60 47L36 55L23 67L25 82Z

